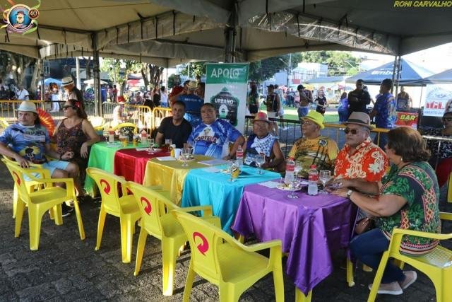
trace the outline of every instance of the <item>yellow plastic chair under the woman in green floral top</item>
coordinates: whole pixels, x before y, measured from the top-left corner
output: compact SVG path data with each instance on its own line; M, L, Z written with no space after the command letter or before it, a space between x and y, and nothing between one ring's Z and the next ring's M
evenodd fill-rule
M440 217L444 220L452 220L452 213L441 212ZM375 301L381 278L383 277L383 272L389 258L408 263L412 267L415 267L415 269L419 269L426 274L435 286L436 301L452 301L452 291L449 288L452 281L452 250L448 250L438 245L434 250L425 255L411 256L402 254L400 253L400 242L405 235L438 240L452 238L452 233L437 234L394 228L389 248L383 253L383 257L381 257L380 265L376 271L374 283L372 284L372 289L367 301Z

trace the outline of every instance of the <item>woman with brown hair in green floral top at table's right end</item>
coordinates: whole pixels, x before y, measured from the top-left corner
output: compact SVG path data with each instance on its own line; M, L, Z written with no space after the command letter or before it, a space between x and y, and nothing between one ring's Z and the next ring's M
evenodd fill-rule
M377 269L383 252L388 250L393 228L439 233L439 187L434 170L427 160L419 132L399 127L388 132L386 154L393 163L381 182L362 179L335 180L340 189L333 191L350 200L376 218L377 228L362 233L350 242L350 250L364 264ZM369 197L369 194L375 195ZM433 250L438 240L404 236L400 251L422 255ZM388 262L379 294L399 295L416 280L416 272L403 272ZM369 286L369 289L371 285Z

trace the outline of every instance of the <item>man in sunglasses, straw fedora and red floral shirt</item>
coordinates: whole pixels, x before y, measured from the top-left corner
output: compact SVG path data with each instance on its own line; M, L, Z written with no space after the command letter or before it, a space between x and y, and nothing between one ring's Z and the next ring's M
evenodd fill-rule
M345 125L345 146L335 161L335 178L381 180L389 163L386 153L369 137L372 129L369 115L353 112Z

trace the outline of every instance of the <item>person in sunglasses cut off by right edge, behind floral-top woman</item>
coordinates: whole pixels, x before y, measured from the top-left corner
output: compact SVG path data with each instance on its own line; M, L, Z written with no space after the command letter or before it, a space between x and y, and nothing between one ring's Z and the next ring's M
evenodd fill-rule
M423 135L432 137L447 137L452 139L452 112L446 112L443 115L443 127L421 130ZM427 148L432 153L429 160L430 165L436 168L439 187L446 184L449 174L452 171L452 142L441 141L438 148L438 141L435 139L427 139Z

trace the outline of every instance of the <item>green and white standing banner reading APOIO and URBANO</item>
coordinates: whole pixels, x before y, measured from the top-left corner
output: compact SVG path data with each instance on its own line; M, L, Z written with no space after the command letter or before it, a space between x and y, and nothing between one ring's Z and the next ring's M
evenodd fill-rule
M217 117L244 132L249 63L206 64L204 103L212 103Z

